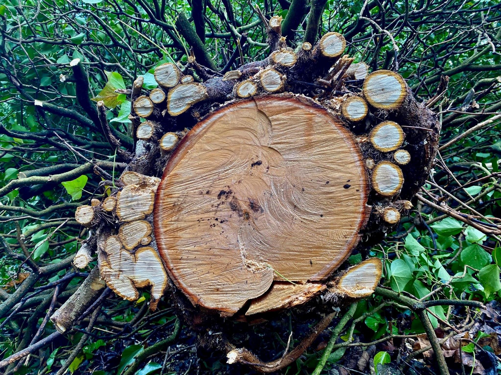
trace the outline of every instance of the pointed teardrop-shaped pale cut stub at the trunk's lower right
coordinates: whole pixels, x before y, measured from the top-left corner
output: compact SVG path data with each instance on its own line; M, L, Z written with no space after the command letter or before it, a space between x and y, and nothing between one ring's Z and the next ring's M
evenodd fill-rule
M351 298L364 298L371 295L376 288L383 266L379 258L369 258L348 268L334 282L329 291L347 295Z

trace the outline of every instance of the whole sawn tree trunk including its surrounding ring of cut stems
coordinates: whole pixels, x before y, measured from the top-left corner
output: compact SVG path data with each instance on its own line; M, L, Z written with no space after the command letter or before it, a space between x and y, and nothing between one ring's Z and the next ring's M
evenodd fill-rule
M94 233L86 241L97 244L106 284L129 300L149 287L152 309L168 291L188 323L308 305L332 311L370 295L380 259L352 267L345 260L366 254L408 213L437 151L440 124L398 73L369 74L344 54L336 32L293 51L281 17L264 23L271 49L264 60L222 75L189 56L184 68L157 66L159 86L149 92L136 79L135 153L120 149L130 162L113 187L103 184L111 193L76 211ZM76 265L88 264L89 249ZM98 286L93 295L83 298L82 289L53 315L58 329L102 291L95 273L84 283ZM319 333L268 363L221 342L228 360L270 372Z

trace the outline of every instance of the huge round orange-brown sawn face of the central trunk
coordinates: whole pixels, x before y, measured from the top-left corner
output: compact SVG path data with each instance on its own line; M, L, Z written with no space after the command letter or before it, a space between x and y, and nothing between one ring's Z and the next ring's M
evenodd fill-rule
M328 277L358 243L368 190L358 144L325 108L306 97L240 100L171 155L155 238L191 302L231 315L274 279Z

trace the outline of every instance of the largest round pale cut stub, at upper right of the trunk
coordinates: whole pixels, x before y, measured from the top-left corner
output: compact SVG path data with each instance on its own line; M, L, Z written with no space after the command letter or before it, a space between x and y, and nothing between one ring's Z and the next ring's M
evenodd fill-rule
M400 107L407 95L407 84L404 78L390 70L377 70L364 80L365 99L379 109L396 109Z

